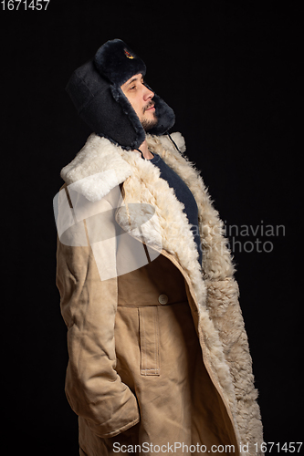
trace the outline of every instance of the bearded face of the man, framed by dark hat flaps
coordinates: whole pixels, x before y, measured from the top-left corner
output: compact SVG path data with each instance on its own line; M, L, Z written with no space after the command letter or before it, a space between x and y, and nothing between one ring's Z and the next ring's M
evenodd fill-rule
M143 84L142 74L132 76L122 84L121 90L129 99L144 130L151 130L157 124L152 98L154 93Z

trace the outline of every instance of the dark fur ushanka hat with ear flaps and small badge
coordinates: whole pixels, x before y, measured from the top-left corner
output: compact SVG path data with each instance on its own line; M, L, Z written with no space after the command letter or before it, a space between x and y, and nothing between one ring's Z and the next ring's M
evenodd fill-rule
M95 133L126 150L139 148L146 136L140 119L121 90L122 84L139 73L142 76L146 73L142 59L123 41L113 39L74 71L66 88L81 119ZM162 135L173 127L174 112L155 92L153 102L158 122L149 133Z

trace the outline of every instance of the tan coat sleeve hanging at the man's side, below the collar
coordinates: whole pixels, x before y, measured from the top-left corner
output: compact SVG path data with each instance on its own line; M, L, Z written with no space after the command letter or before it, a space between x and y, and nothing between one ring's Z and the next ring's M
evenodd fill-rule
M58 204L57 285L68 326L66 394L91 430L100 437L113 437L140 420L135 395L115 370L118 290L113 207L106 198L95 205L79 199L74 197L75 203L68 197L64 202L63 193Z

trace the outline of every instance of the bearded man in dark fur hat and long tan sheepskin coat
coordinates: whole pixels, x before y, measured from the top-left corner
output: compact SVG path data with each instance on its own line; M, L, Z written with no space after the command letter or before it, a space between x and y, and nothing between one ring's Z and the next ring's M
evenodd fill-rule
M58 194L79 451L257 454L257 390L222 223L145 70L112 40L68 82L94 131Z

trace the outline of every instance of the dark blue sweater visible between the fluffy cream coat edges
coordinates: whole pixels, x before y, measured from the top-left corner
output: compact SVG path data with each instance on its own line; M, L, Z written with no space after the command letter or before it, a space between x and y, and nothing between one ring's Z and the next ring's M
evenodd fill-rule
M169 187L173 188L176 198L183 202L186 216L188 217L189 223L194 225L191 229L194 233L194 241L197 246L199 254L199 263L202 264L202 249L201 240L198 233L198 211L197 204L194 199L194 195L189 190L188 186L184 183L183 179L180 178L175 171L173 171L163 160L157 155L153 154L151 162L157 166L161 171L161 178L168 182Z

